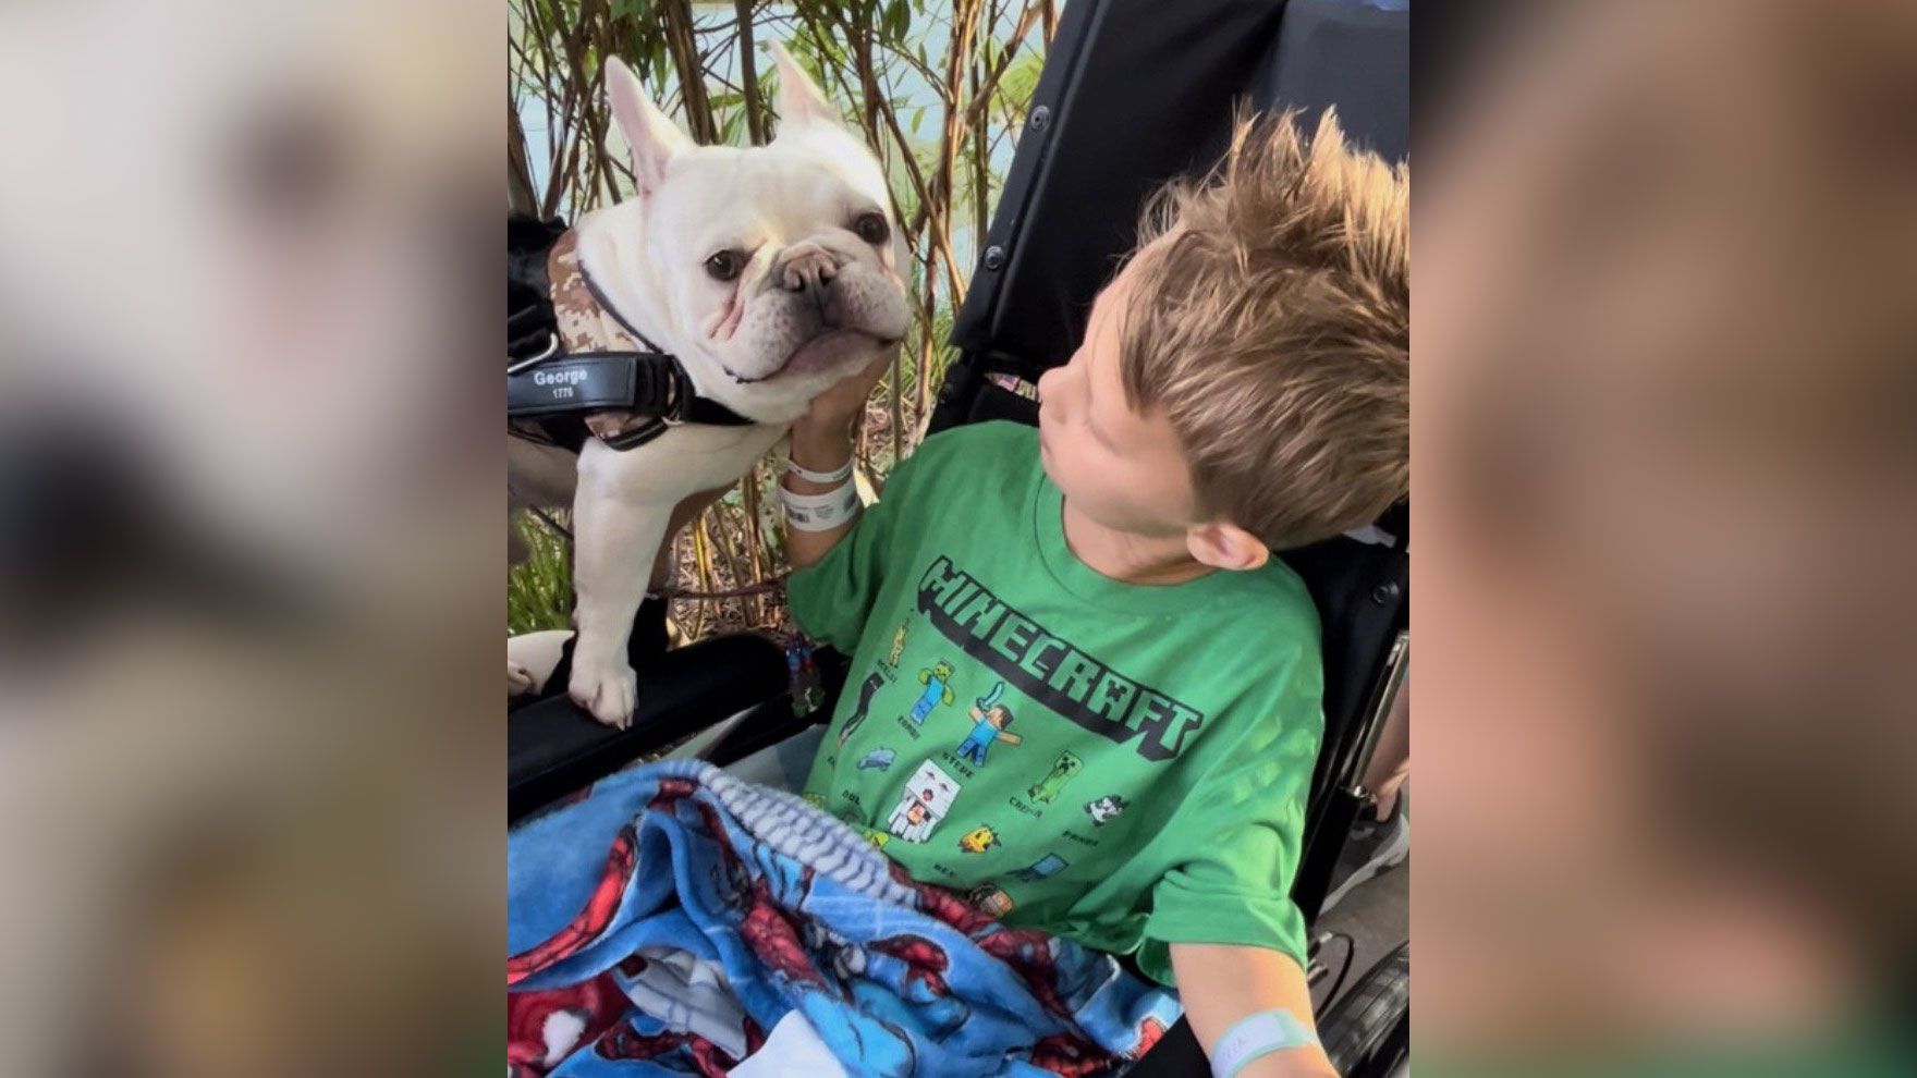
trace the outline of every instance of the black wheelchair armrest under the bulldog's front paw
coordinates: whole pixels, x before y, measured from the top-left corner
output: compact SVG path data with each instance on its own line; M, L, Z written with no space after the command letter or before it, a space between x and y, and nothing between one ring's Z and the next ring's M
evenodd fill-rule
M667 652L640 673L629 729L600 725L564 694L520 708L506 719L506 823L786 689L784 648L734 633Z

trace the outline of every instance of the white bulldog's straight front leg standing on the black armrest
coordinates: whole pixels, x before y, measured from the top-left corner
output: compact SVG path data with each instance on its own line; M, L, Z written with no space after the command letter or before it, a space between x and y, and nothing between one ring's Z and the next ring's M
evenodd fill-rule
M638 679L627 662L627 637L677 501L650 489L646 472L636 453L621 455L598 441L589 441L579 455L573 499L579 641L567 692L594 719L613 727L633 721Z

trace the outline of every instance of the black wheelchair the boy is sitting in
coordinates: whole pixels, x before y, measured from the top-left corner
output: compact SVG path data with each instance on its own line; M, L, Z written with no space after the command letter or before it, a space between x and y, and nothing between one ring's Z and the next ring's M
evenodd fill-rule
M1037 422L1022 389L1074 353L1093 295L1133 246L1143 199L1213 161L1233 109L1336 105L1344 130L1386 159L1409 142L1409 0L1072 0L1064 6L1005 190L953 326L960 359L930 430ZM1284 551L1317 604L1325 742L1311 779L1292 898L1311 923L1344 840L1367 804L1361 777L1407 664L1409 510L1361 537ZM730 765L832 715L845 660L820 654L824 698L796 715L784 648L738 633L698 641L648 671L625 731L560 694L508 723L508 823L709 731L702 758ZM719 729L723 723L723 729ZM1277 886L1277 882L1275 882ZM1409 944L1319 1015L1348 1078L1409 1065ZM1206 1074L1187 1022L1137 1063L1141 1078Z

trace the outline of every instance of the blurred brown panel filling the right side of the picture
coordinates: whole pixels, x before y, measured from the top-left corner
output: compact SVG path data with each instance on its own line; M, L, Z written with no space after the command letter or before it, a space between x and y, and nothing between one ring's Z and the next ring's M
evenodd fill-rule
M1917 6L1420 13L1419 1059L1909 1074Z

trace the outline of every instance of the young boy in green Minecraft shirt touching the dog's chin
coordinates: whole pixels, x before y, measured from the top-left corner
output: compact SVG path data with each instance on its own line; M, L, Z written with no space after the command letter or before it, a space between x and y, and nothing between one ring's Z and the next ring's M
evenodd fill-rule
M928 439L863 520L847 432L876 372L792 432L792 612L870 689L807 794L914 879L1135 953L1244 1076L1330 1074L1288 898L1319 627L1271 551L1405 493L1407 190L1330 117L1309 144L1240 125L1154 199L1037 430Z

